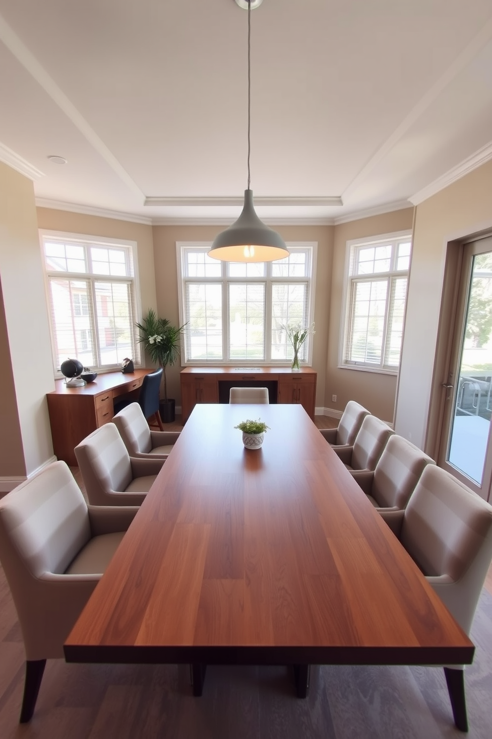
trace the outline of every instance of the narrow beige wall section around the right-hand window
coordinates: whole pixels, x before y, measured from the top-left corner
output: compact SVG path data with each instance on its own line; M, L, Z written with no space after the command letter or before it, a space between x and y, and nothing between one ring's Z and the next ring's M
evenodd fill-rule
M348 401L358 401L374 415L392 422L395 409L396 376L358 369L339 369L339 341L342 321L345 254L347 241L369 236L411 231L413 208L404 208L379 216L363 218L335 226L333 279L330 287L330 321L325 397L322 405L342 412ZM336 395L336 403L331 396Z

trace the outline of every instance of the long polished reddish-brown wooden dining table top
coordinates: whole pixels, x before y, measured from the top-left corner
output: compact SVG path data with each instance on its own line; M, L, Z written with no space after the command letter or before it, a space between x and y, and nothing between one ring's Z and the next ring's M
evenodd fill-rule
M261 418L259 450L233 427ZM300 405L197 405L68 661L469 664L474 646Z

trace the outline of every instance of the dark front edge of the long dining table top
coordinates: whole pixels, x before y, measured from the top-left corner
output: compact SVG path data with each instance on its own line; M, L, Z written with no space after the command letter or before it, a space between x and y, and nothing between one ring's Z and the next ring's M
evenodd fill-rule
M119 647L65 644L67 662L101 664L471 664L475 647Z

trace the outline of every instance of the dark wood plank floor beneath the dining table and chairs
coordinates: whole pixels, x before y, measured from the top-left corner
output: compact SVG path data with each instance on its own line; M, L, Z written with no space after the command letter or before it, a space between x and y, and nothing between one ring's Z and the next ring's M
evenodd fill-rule
M490 739L492 596L485 588L471 638L477 652L465 673L468 737ZM35 715L21 726L23 686L21 629L0 568L1 739L462 736L454 728L443 670L432 667L316 667L310 695L302 701L295 697L293 675L286 667L209 667L204 695L193 698L184 666L50 660Z

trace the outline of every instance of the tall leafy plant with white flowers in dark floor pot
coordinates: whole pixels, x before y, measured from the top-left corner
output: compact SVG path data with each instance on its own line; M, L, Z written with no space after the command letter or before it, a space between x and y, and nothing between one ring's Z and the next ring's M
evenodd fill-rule
M166 367L172 365L179 358L180 340L184 326L176 328L167 319L159 319L156 311L149 309L142 323L136 323L140 332L139 342L144 345L145 351L154 364L162 367L164 378L164 398L159 404L159 412L164 423L174 420L175 401L167 398ZM184 324L186 325L186 324Z

